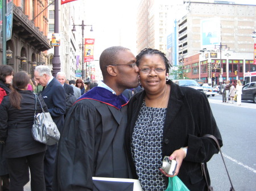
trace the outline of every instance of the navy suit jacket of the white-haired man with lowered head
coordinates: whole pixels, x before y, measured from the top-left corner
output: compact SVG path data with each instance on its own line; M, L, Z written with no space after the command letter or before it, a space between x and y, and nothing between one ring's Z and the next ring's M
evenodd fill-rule
M56 78L53 78L40 95L42 95L52 120L61 133L66 112L66 96L63 86Z

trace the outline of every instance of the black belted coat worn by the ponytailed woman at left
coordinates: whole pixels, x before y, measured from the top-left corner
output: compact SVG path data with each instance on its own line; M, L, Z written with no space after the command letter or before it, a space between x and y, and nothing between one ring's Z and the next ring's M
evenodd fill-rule
M10 104L10 96L3 98L0 105L0 138L6 139L6 158L18 158L43 152L47 146L37 142L32 137L32 125L34 122L35 96L32 91L19 91L22 95L21 109L14 108ZM42 97L40 97L43 101ZM42 102L45 111L46 104ZM40 105L37 112L42 112Z

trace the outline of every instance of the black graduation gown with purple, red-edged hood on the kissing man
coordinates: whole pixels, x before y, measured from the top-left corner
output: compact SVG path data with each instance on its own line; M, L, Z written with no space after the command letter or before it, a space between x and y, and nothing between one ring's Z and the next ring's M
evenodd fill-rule
M93 190L93 176L128 178L124 147L127 99L102 87L85 95L65 118L53 190ZM118 109L112 101L120 99L125 103L121 101Z

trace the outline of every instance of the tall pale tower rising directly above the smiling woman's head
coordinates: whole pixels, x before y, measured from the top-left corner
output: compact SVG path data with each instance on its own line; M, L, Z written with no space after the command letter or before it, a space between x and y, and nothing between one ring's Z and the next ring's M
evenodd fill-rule
M166 53L166 27L170 7L168 0L142 0L137 13L137 52L155 48Z

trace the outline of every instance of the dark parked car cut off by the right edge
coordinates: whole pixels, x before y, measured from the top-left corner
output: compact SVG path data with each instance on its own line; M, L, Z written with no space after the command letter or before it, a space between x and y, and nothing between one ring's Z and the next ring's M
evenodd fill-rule
M247 83L242 87L242 100L251 100L256 103L256 82Z

